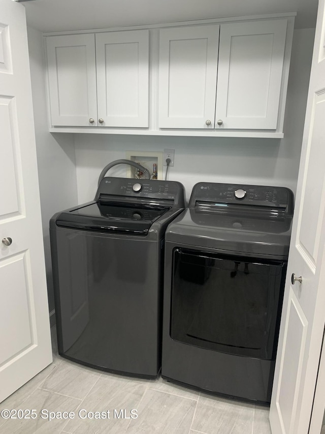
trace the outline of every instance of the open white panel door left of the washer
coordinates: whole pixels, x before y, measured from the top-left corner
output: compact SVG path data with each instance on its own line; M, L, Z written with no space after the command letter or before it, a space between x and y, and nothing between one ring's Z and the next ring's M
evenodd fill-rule
M52 361L25 9L0 0L0 401Z

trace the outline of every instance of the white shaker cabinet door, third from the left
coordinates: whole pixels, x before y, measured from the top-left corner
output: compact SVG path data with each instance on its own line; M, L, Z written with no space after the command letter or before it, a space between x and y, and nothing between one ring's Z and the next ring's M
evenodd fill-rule
M213 128L219 25L160 30L159 128Z

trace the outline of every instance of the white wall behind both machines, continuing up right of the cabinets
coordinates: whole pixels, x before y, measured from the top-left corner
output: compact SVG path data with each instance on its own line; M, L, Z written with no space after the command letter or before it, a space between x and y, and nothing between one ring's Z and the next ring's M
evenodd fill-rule
M93 199L102 168L125 151L175 149L169 180L184 184L187 198L200 181L285 186L296 190L314 29L296 30L291 55L283 139L156 137L76 134L79 203ZM126 174L125 166L108 175Z

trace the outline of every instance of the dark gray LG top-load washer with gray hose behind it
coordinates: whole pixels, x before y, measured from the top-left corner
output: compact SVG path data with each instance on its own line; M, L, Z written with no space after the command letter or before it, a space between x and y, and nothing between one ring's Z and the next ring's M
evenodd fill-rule
M178 182L104 178L93 201L50 220L58 352L156 377L164 236L184 209Z

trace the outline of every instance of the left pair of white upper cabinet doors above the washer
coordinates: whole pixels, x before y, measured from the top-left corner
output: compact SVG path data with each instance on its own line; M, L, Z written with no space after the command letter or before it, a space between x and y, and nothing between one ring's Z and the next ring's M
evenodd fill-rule
M53 126L148 127L148 30L49 36L46 46Z

